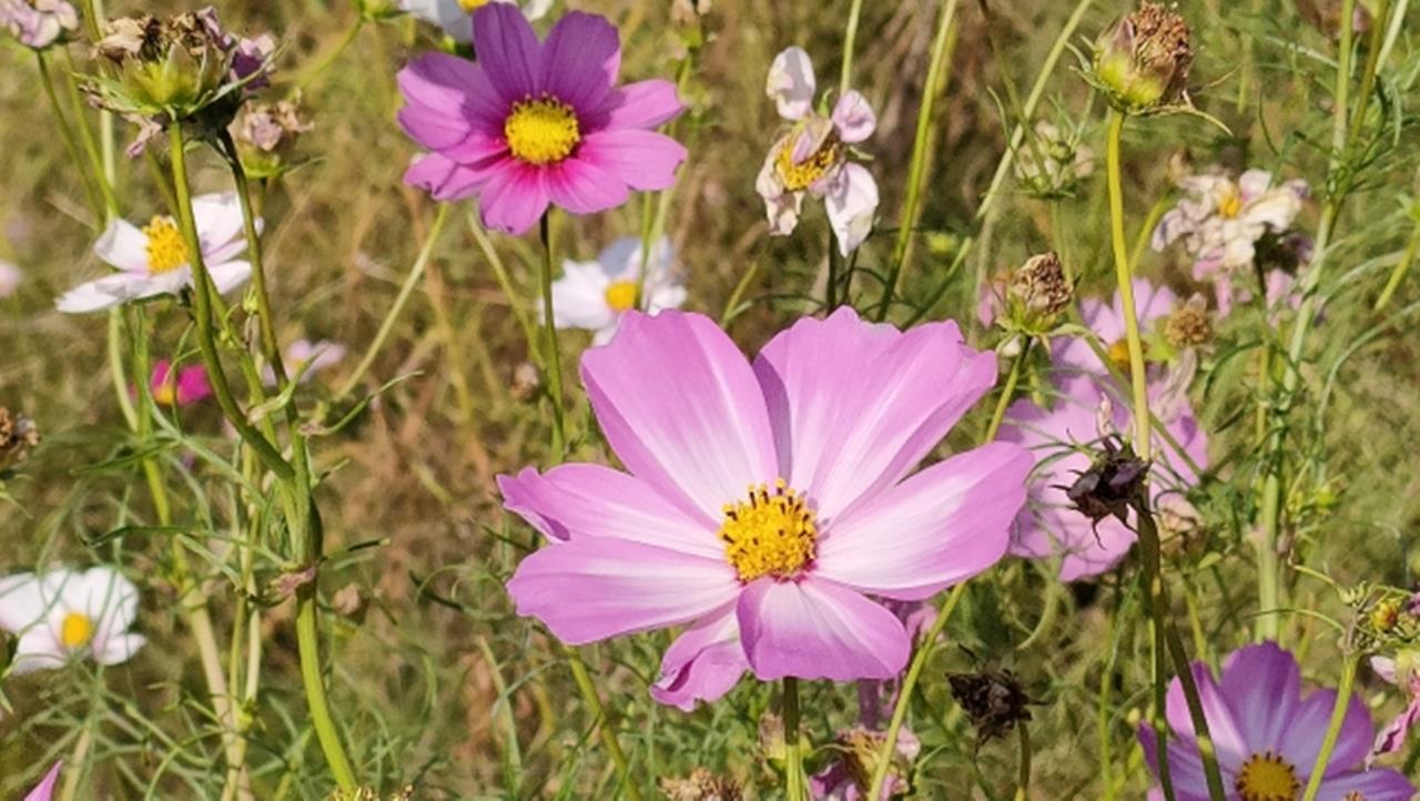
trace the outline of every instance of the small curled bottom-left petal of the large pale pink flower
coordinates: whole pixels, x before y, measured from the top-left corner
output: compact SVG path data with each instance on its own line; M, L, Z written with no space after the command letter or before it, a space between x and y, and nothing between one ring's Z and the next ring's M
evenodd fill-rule
M692 712L697 700L713 702L728 693L748 669L731 605L724 614L686 629L670 643L650 697Z

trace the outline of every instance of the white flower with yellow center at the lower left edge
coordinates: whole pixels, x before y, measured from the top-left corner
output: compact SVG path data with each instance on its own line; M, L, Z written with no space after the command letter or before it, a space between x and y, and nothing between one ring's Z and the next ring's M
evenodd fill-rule
M138 588L109 567L0 578L0 628L20 638L16 673L82 656L99 665L126 662L146 642L128 632L136 618Z

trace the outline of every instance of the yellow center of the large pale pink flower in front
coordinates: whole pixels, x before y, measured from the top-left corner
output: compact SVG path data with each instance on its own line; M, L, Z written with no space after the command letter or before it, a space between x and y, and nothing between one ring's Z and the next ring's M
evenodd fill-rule
M772 491L751 486L748 500L724 506L720 540L740 581L794 578L814 561L818 525L804 496L775 479Z

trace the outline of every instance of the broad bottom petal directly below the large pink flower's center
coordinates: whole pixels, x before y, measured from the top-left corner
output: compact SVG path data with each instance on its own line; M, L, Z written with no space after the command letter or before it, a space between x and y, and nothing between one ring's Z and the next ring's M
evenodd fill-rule
M750 668L764 682L892 679L907 663L897 616L832 581L761 578L744 588L737 616Z

